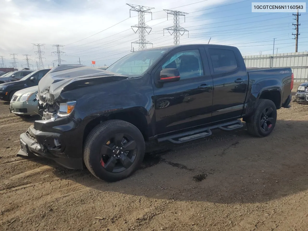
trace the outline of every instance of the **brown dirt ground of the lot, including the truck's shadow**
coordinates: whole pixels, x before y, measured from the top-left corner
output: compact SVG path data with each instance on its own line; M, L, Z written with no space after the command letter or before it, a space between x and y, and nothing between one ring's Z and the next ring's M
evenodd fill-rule
M241 129L150 146L140 170L107 183L15 156L34 119L0 101L0 230L306 231L308 105L290 104L266 138Z

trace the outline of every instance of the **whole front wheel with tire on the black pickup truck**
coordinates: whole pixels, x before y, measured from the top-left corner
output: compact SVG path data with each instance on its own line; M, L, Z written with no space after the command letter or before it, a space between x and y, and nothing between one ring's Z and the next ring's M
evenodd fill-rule
M138 128L123 120L108 120L87 136L83 159L95 177L117 181L139 168L144 152L145 142Z

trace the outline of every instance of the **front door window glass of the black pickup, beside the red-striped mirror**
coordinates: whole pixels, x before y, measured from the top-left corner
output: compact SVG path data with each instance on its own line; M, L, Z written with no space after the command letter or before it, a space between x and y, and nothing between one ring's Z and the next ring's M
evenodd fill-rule
M177 52L162 65L162 69L165 68L177 68L180 72L180 79L189 79L203 75L199 50Z

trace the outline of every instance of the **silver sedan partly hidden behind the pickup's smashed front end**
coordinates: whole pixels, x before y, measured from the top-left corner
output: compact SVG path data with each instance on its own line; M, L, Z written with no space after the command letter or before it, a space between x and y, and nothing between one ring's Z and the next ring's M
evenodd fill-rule
M38 92L38 86L16 91L10 101L10 112L20 117L39 114L38 102L33 102Z

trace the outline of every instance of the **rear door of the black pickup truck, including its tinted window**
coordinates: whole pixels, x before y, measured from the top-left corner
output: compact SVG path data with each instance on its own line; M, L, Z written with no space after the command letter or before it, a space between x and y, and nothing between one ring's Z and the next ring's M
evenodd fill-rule
M235 48L205 46L213 77L213 122L240 118L248 86L241 53ZM237 59L237 57L241 59Z

